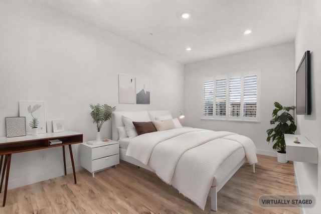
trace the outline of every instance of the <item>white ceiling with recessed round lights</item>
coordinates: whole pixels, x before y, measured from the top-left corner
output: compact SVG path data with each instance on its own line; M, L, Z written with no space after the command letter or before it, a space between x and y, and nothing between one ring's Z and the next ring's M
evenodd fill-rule
M294 41L301 0L36 2L188 64Z

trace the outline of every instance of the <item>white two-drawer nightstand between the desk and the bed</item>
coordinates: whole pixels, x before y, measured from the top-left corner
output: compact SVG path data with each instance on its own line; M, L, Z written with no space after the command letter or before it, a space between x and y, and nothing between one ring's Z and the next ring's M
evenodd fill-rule
M82 143L80 155L81 166L95 177L95 172L119 164L119 143L112 140L97 145Z

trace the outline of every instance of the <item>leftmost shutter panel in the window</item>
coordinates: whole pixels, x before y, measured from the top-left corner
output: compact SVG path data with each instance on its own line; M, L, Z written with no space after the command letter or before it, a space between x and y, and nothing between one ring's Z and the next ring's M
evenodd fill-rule
M213 116L213 94L214 80L213 78L207 78L204 80L203 116Z

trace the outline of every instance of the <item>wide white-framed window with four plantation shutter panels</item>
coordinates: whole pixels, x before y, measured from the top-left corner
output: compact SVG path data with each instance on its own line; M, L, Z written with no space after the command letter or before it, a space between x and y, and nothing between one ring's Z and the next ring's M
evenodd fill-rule
M259 121L259 71L205 78L205 119Z

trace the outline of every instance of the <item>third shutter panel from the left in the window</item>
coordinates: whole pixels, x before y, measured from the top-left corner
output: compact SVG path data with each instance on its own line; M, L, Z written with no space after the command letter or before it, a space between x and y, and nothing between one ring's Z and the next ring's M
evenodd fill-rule
M241 77L229 80L229 116L239 117L241 113Z

